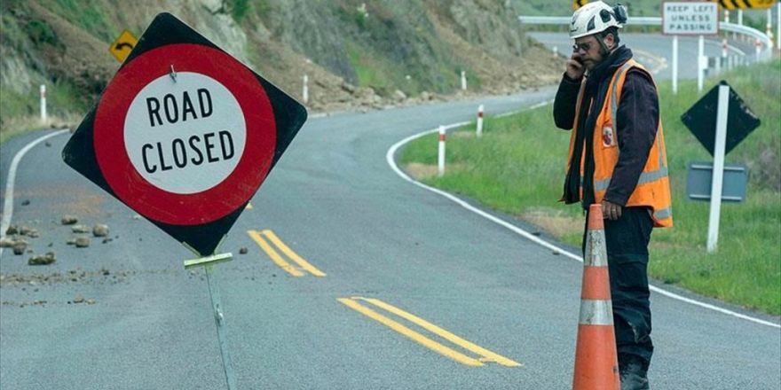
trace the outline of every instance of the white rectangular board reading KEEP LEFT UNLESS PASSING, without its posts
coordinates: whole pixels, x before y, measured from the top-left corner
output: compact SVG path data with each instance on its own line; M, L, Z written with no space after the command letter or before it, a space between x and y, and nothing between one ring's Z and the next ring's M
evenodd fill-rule
M662 33L666 35L719 34L719 4L712 2L665 2Z

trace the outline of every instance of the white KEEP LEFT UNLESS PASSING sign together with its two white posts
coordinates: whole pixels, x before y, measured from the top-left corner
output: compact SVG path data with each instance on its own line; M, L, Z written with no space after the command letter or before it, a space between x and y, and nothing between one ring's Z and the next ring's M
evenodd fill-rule
M707 58L705 36L719 34L719 4L710 2L665 2L662 34L673 35L673 92L678 92L678 35L699 35L697 88L702 90Z

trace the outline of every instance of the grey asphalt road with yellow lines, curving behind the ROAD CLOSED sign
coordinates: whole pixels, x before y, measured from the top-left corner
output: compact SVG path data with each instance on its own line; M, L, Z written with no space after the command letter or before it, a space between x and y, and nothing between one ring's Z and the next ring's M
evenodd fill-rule
M239 388L569 388L580 262L406 182L385 158L478 104L503 113L553 93L308 121L226 238L234 260L216 267ZM2 145L3 189L13 156L49 132ZM19 160L12 224L37 229L32 250L57 261L0 255L0 387L225 388L203 273L182 267L192 255L66 168L66 141ZM108 224L111 241L68 246L63 214ZM656 388L781 386L778 318L651 300Z

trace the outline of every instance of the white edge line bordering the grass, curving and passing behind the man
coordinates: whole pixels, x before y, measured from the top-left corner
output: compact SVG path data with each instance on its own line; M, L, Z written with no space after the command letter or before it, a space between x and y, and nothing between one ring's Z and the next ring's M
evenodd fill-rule
M533 105L532 107L530 107L530 109L531 108L537 108L537 107L540 107L540 106L543 106L543 105L548 105L551 101L552 100L548 100L548 101L541 102L539 104ZM517 112L513 112L513 113L517 113ZM507 116L507 115L509 115L509 113L502 114L501 116ZM453 123L453 124L446 125L445 129L446 130L454 129L454 128L458 128L458 127L464 126L466 124L469 124L469 121L461 121L461 122L458 122L458 123ZM553 250L553 251L555 251L557 253L564 254L564 256L567 256L567 257L571 258L572 260L577 260L577 261L583 262L583 258L580 255L568 252L568 251L564 250L563 248L560 248L558 246L550 244L547 241L542 240L541 238L538 238L538 237L534 236L532 233L529 233L526 230L518 228L516 225L513 225L513 224L511 224L509 222L505 222L505 221L503 221L503 220L501 220L501 219L499 219L499 218L497 218L497 217L495 217L495 216L493 216L491 214L485 213L485 211L480 210L477 207L473 207L473 206L469 205L469 203L467 203L467 202L465 202L465 201L463 201L461 199L458 199L457 197L455 197L453 194L451 194L449 192L438 190L438 189L430 187L430 186L428 186L426 184L423 184L423 183L420 183L418 181L415 181L414 179L412 179L411 177L406 175L404 173L404 171L402 171L400 168L398 168L398 166L396 165L396 160L394 159L394 155L396 154L396 151L398 151L398 148L400 148L401 146L403 146L404 144L406 144L406 143L408 143L410 141L413 141L413 140L415 140L417 138L420 138L422 136L427 136L427 135L429 135L431 133L434 133L434 132L437 132L437 131L438 131L438 128L437 129L426 130L426 131L423 131L421 133L415 134L413 136L407 136L406 138L402 139L401 141L398 141L396 144L393 144L392 146L390 146L390 149L388 149L388 152L385 153L385 160L388 161L388 165L390 165L390 168L393 169L394 172L396 172L396 175L399 175L402 179L406 180L409 183L413 183L414 185L417 185L418 187L421 187L421 188L426 189L428 191L432 191L432 192L435 192L435 193L437 193L439 195L442 195L443 197L454 201L459 206L464 207L467 210L469 210L469 211L471 211L471 212L473 212L475 214L478 214L478 215L484 217L485 219L488 219L491 222L498 223L499 225L501 225L501 226L503 226L503 227L505 227L505 228L507 228L509 230L512 230L513 232L517 233L519 236L521 236L523 238L527 238L527 239L533 241L535 244L538 244L540 246L544 246L544 247L546 247L546 248L548 248L550 250ZM726 308L719 308L719 307L711 305L709 303L701 302L699 300L692 300L690 298L683 297L682 295L678 295L675 292L669 292L669 291L667 291L665 289L659 288L659 287L657 287L655 285L650 285L649 287L650 287L652 292L659 292L660 294L665 295L668 298L672 298L674 300L681 300L682 302L690 303L691 305L699 306L700 308L707 308L707 309L714 310L714 311L717 311L719 313L722 313L722 314L725 314L725 315L728 315L728 316L734 316L734 317L738 317L740 319L751 321L753 323L762 324L762 325L766 325L766 326L770 326L770 327L781 329L781 324L771 323L769 321L765 321L765 320L762 320L760 318L755 318L753 316L746 316L746 315L743 315L743 314L736 313L734 311L728 310Z

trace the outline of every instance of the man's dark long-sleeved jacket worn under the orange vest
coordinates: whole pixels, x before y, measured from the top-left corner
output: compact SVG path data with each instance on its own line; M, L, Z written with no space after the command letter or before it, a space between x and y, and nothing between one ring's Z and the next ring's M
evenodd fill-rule
M578 188L580 156L584 144L593 144L596 117L604 105L612 75L629 58L632 58L632 51L626 46L620 46L586 76L586 90L580 105L575 148L570 161L570 171L564 181L563 199L566 203L580 201L584 208L594 203L594 153L590 147L586 148L583 199L580 199ZM553 105L553 117L556 127L560 129L572 129L574 125L580 82L581 80L572 80L564 74L559 84ZM659 95L651 74L638 68L627 72L616 115L618 128L615 130L620 154L604 199L625 206L629 196L635 191L640 174L643 173L659 127Z

